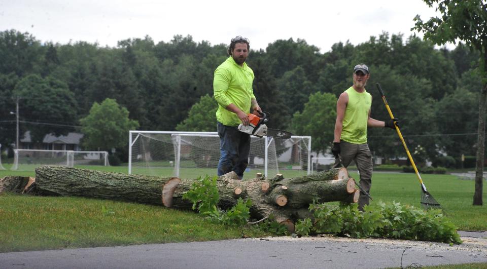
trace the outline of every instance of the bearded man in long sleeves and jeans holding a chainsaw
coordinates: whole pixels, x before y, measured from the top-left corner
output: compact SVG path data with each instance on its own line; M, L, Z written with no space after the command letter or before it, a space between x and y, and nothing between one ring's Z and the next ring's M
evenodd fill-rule
M249 125L247 114L262 111L254 96L254 71L245 62L249 40L240 35L230 42L228 57L215 70L214 98L218 102L217 131L220 136L218 176L234 171L240 179L249 163L250 135L238 131L240 123Z

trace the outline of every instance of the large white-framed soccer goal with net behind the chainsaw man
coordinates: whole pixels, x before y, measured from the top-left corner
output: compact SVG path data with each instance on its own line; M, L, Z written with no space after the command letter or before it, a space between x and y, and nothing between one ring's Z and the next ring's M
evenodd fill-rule
M286 177L309 174L309 136L290 139L251 136L244 178L256 173ZM128 173L197 178L216 175L220 138L216 132L130 131ZM286 171L289 170L289 171Z

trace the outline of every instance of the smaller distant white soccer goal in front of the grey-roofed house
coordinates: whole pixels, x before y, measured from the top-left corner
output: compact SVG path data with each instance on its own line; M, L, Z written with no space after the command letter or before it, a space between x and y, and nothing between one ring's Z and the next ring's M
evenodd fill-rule
M14 149L14 164L11 170L32 171L41 165L108 166L108 151Z

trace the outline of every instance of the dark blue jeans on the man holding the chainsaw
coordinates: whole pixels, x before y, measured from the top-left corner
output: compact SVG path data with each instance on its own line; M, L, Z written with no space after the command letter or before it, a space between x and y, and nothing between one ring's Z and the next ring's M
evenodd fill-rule
M249 164L250 135L238 131L236 126L217 124L220 136L220 162L218 176L234 171L242 179Z

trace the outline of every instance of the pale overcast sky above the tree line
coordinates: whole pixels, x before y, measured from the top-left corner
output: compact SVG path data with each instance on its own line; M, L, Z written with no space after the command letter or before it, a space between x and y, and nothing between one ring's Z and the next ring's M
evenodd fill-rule
M43 43L86 41L110 47L146 35L156 44L169 42L181 34L212 45L242 35L252 49L265 49L292 37L323 53L334 43L357 45L382 31L403 33L406 40L417 14L423 20L438 16L422 0L0 0L0 30L29 32Z

